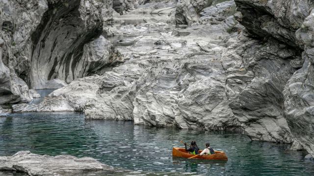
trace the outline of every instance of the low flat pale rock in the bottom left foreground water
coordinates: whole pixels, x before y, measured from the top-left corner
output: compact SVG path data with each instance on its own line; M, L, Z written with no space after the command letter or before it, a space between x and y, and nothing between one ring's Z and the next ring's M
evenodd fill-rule
M18 171L29 176L56 176L64 173L79 174L86 171L113 170L94 158L71 155L39 155L20 151L12 156L0 157L0 171Z

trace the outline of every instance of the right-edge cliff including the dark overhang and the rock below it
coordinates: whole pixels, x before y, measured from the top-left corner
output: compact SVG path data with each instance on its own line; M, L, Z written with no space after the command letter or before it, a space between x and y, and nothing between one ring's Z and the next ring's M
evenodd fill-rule
M292 75L281 79L283 115L287 120L291 136L295 140L293 149L306 149L314 155L313 124L313 1L308 0L235 0L238 10L236 18L251 33L272 37L285 44L299 48L291 57ZM287 52L285 52L287 53ZM279 80L278 80L279 81ZM282 91L283 90L283 91Z

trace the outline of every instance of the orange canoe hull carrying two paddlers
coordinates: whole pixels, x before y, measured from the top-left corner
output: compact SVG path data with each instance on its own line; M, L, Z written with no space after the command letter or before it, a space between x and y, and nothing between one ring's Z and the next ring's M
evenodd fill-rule
M202 151L200 150L199 152L201 153ZM184 148L174 147L172 148L172 156L189 158L189 157L195 156L195 154L189 154L188 152L185 152ZM203 156L198 155L194 157L194 159L228 160L228 157L226 153L224 152L215 151L215 154L210 154L210 155L204 154Z

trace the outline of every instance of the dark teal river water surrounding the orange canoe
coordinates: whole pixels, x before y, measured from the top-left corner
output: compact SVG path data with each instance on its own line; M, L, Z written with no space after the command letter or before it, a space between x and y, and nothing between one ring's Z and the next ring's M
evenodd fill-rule
M209 141L229 160L201 161L173 158L179 140ZM105 164L137 173L125 175L313 176L306 152L289 146L252 142L238 133L156 129L132 122L85 121L79 113L21 113L0 118L0 155L21 150L36 154L91 156ZM3 174L3 173L2 173ZM1 174L0 174L1 175Z

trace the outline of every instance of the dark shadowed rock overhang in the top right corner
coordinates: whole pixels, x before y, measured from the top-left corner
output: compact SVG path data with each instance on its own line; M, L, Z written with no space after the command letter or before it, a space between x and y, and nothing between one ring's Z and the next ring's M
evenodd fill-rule
M239 22L250 32L272 36L286 44L301 47L295 31L309 15L312 2L307 0L235 0L242 13Z

